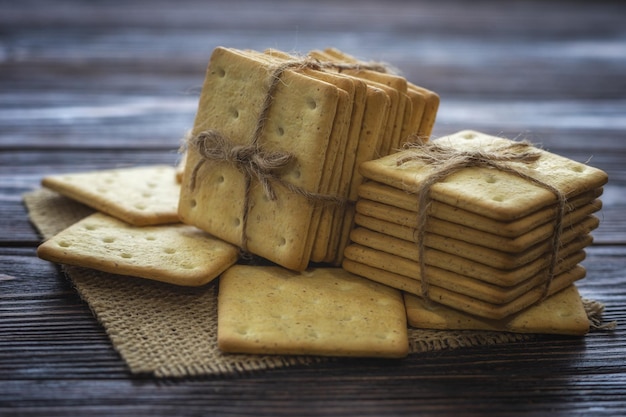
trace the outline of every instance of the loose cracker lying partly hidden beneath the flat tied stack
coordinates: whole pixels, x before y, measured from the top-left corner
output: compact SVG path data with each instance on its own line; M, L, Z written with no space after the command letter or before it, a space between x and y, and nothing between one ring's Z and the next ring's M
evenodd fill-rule
M526 310L502 320L488 320L440 304L427 304L405 294L409 325L418 329L489 330L514 333L547 333L581 336L589 331L589 319L575 285Z

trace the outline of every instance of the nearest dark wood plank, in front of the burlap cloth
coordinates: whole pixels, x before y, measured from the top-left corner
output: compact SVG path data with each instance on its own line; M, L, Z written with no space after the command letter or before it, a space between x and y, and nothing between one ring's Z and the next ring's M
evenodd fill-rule
M581 293L606 302L607 319L623 320L624 248L592 248L590 255ZM623 330L592 333L584 340L542 336L402 361L342 360L226 380L129 377L67 282L32 257L32 250L2 256L21 268L15 268L20 272L13 279L4 278L7 290L0 295L0 380L5 381L4 406L20 407L23 415L88 410L164 415L179 410L176 404L187 404L189 413L210 408L225 414L255 409L268 415L379 415L385 410L488 415L515 407L521 414L555 408L585 415L600 407L618 413L616 398L626 390L620 379L626 372ZM38 390L30 389L32 380L39 381Z

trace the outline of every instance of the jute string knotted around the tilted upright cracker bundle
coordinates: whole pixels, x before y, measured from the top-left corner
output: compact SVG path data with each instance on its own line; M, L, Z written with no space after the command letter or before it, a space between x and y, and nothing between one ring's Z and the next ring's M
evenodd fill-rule
M269 118L269 112L274 101L276 88L281 82L281 75L283 72L288 69L301 71L304 69L322 70L325 68L333 68L338 71L348 68L372 69L380 72L385 71L385 67L378 64L369 66L362 64L340 64L331 62L322 63L310 57L306 57L301 60L286 61L273 69L271 73L270 85L263 100L257 124L248 144L238 145L216 129L204 130L196 135L190 135L186 139L187 147L189 149L194 149L201 156L200 160L191 171L190 187L192 190L195 190L197 186L198 171L208 161L230 163L244 175L245 190L241 239L241 249L244 253L248 252L246 225L248 221L248 211L250 208L250 190L252 187L252 179L256 179L261 184L265 196L271 201L276 200L274 185L280 185L290 192L301 195L314 203L347 203L344 198L310 192L302 187L285 181L281 177L280 173L290 164L294 163L296 157L288 152L266 151L260 144L260 138L265 130L265 125Z

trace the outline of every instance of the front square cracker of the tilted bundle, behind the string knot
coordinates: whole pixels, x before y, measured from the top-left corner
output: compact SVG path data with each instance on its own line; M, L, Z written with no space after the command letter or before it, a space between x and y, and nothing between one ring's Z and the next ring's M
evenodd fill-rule
M207 69L193 134L216 129L236 144L249 144L268 94L275 67L241 51L216 48ZM296 162L279 175L307 192L318 193L324 178L329 138L338 102L334 85L286 70L274 92L259 145L265 151L291 153ZM230 163L205 163L197 172L196 189L191 174L200 162L187 153L179 215L195 225L256 255L286 268L302 270L309 262L309 231L318 204L276 185L276 200L265 196L252 179L245 195L245 177ZM244 201L249 202L244 221ZM317 216L319 221L319 216ZM248 239L244 239L244 223Z

